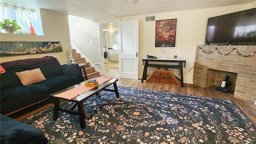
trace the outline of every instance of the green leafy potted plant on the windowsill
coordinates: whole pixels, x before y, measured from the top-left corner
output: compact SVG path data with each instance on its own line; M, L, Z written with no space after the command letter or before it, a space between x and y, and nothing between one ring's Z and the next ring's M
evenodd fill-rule
M9 18L4 19L3 22L0 22L0 27L1 29L4 29L6 33L14 33L16 30L21 30L21 27L18 26L16 20L11 21Z

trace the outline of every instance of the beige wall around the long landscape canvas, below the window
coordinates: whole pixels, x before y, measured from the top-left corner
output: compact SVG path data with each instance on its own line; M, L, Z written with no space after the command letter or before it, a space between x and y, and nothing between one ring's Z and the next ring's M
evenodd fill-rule
M63 52L47 54L30 54L22 56L2 56L0 62L12 60L22 60L26 58L42 58L44 56L54 56L60 64L66 64L66 48L70 47L70 34L68 28L68 16L50 10L40 10L44 36L25 34L5 34L0 33L0 41L26 41L26 42L61 42Z

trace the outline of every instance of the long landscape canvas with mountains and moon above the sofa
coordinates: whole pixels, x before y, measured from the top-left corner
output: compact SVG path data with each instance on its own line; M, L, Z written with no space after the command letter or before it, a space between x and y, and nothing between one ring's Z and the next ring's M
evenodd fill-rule
M62 52L61 42L0 42L0 56Z

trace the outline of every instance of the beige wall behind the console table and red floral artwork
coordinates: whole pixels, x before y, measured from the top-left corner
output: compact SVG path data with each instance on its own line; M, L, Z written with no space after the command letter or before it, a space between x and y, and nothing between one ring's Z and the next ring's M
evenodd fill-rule
M206 26L209 17L219 16L232 12L238 12L253 8L253 4L243 4L235 6L225 6L218 8L206 8L198 10L187 10L178 12L166 12L152 14L156 15L156 20L166 20L177 18L176 25L176 43L175 47L166 48L166 58L173 58L178 55L178 58L186 59L186 68L184 70L184 83L193 83L193 66L196 53L196 46L205 44ZM148 55L153 55L158 58L164 56L162 48L155 47L155 22L144 22L145 16L129 16L114 19L104 19L100 21L111 20L133 20L139 19L139 60ZM192 70L190 70L192 68ZM188 70L190 70L188 72ZM178 71L173 69L174 73ZM143 66L139 65L139 78L142 78Z

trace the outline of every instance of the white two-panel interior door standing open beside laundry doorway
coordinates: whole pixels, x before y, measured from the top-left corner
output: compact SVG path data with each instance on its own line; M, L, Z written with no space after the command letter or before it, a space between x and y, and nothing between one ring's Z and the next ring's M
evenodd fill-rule
M119 77L138 80L139 20L118 22Z

